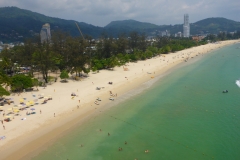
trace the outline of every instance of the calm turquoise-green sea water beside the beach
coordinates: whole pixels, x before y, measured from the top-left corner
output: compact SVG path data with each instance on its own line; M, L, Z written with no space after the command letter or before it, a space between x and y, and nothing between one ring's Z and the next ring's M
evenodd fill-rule
M240 159L238 46L179 66L144 92L76 126L33 159ZM225 89L229 93L222 93Z

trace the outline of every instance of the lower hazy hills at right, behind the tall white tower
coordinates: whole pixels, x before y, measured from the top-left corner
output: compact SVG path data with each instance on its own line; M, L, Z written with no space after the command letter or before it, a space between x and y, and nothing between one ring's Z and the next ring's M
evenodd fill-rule
M151 23L138 22L135 20L124 20L124 21L113 21L109 23L105 30L112 34L116 35L119 32L129 33L131 31L137 31L141 33L147 33L150 35L156 31L170 31L171 34L182 32L183 25L155 25ZM190 33L191 35L201 34L201 33L212 33L217 34L220 31L233 32L240 30L240 22L229 20L226 18L207 18L200 20L195 23L190 24Z

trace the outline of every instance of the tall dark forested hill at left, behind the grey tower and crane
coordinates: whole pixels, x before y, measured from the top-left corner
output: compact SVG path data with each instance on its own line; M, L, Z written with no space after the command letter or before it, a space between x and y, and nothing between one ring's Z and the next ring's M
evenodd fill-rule
M25 37L39 34L43 24L49 23L51 30L61 29L71 35L80 35L75 21L48 17L43 14L31 12L17 7L0 8L0 40L21 41ZM78 22L85 35L99 36L101 27Z

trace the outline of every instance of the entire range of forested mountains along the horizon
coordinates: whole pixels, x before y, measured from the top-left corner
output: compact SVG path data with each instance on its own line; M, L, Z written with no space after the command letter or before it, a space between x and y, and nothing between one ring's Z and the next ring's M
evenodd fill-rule
M52 31L61 29L69 32L72 36L80 35L73 20L48 17L17 7L3 7L0 8L0 41L23 41L25 38L39 34L42 25L45 23L50 24ZM98 38L103 33L117 37L121 33L128 34L132 31L145 33L146 35L156 35L165 30L170 31L171 34L182 32L182 24L155 25L135 20L113 21L105 27L97 27L84 22L78 22L78 25L84 35L89 35L93 38ZM191 23L190 34L216 34L219 31L232 32L236 30L240 30L240 22L225 18L207 18Z

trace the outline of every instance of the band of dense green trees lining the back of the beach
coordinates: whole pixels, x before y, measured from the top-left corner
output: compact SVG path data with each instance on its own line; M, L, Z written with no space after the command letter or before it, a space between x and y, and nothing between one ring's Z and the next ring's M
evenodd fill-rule
M11 85L13 90L21 90L38 84L27 81L28 76L18 76L21 66L29 68L30 76L33 76L34 72L41 73L42 79L48 83L50 71L60 70L60 78L66 79L68 73L80 76L82 72L88 74L90 70L113 69L127 62L145 60L205 43L170 37L157 37L156 41L147 41L144 34L137 32L123 34L118 39L103 35L100 41L96 42L89 36L83 39L58 31L53 32L51 43L41 43L39 38L29 39L24 46L3 50L0 54L3 59L3 76L0 80L1 84ZM6 74L14 76L8 78Z

